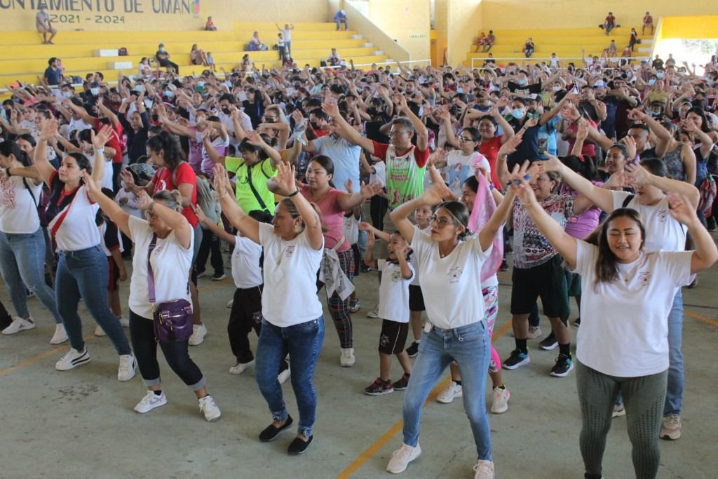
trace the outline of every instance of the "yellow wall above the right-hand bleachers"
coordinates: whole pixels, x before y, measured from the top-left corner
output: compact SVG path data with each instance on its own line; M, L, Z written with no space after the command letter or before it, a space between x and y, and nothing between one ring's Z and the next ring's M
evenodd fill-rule
M670 15L714 15L716 0L483 0L484 28L546 29L597 27L608 11L625 27L640 27L645 11L654 19ZM620 32L620 30L619 30ZM715 36L715 34L714 34Z

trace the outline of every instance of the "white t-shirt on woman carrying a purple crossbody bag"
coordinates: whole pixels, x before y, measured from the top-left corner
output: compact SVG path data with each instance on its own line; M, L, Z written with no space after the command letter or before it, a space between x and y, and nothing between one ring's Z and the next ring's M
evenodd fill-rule
M149 223L140 218L130 216L128 223L131 240L134 243L129 307L136 315L151 319L152 304L149 302L147 282L147 251L149 251L149 243L152 241L152 231L149 228ZM155 304L175 299L187 299L190 303L192 302L187 282L190 276L194 243L195 237L192 235L190 247L182 248L177 236L174 236L174 231L169 233L167 238L157 238L150 259L154 276Z

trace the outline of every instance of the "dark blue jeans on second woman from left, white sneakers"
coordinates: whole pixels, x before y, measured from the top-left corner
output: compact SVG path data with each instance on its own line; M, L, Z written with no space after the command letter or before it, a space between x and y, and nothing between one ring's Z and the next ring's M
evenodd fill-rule
M55 276L57 310L65 323L70 345L78 351L85 349L83 324L78 315L80 297L98 325L107 333L118 354L131 354L120 320L110 311L107 302L107 256L100 246L79 251L60 251Z

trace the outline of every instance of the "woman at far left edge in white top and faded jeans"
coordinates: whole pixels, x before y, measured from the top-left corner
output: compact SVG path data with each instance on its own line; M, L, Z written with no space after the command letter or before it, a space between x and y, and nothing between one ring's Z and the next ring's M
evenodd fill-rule
M45 284L45 235L37 215L42 178L14 141L0 143L0 167L0 272L16 314L2 333L11 335L35 327L27 310L29 290L55 317L50 344L64 343L67 334L57 312L55 292Z

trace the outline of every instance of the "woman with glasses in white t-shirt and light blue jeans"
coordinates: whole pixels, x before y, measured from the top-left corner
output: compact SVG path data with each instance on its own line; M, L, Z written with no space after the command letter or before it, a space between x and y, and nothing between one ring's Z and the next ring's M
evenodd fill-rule
M416 254L428 319L404 395L404 444L393 453L386 469L401 473L421 454L421 408L449 363L457 361L463 378L464 409L476 444L477 477L493 477L484 399L490 339L479 278L494 238L506 220L513 193L506 196L485 228L475 236L469 236L466 206L456 201L442 203L447 197L452 197L451 190L437 182L391 213L391 220ZM409 221L411 212L423 205L439 205L432 216L431 233L424 233Z

